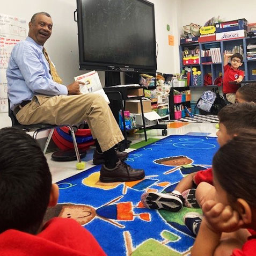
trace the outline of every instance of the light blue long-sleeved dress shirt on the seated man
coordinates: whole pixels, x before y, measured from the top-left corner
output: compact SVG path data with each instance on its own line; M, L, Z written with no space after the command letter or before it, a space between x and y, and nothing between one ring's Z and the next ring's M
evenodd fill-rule
M53 81L42 46L32 38L13 47L6 70L10 107L31 100L36 94L67 95L67 86Z

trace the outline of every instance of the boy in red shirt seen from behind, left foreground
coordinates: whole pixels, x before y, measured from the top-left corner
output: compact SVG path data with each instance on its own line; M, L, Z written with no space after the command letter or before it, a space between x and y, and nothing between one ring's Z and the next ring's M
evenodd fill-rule
M0 129L0 255L106 255L75 220L53 218L42 225L58 200L46 158L24 131Z

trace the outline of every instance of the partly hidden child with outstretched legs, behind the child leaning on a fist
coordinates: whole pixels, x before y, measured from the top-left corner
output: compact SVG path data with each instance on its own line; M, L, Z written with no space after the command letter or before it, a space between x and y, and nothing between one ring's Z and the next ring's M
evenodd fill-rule
M218 113L220 129L217 131L217 141L220 146L231 140L241 128L256 128L256 104L238 103L225 106ZM179 211L183 205L198 208L195 199L195 189L200 182L213 184L212 169L188 174L175 187L172 193L144 193L141 196L143 205L150 209L165 209Z

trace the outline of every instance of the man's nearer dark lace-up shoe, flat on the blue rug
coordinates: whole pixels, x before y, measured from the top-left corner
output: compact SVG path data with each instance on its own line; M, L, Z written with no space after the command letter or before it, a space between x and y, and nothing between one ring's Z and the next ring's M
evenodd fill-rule
M114 169L107 169L103 164L100 169L100 181L115 182L115 181L134 181L141 180L145 177L145 172L142 169L133 169L130 165L122 160L116 163Z

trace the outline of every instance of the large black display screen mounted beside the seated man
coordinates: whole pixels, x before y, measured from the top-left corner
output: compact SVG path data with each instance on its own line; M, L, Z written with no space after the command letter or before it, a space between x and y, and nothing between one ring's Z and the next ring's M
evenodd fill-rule
M152 3L77 0L77 17L81 69L156 72Z

